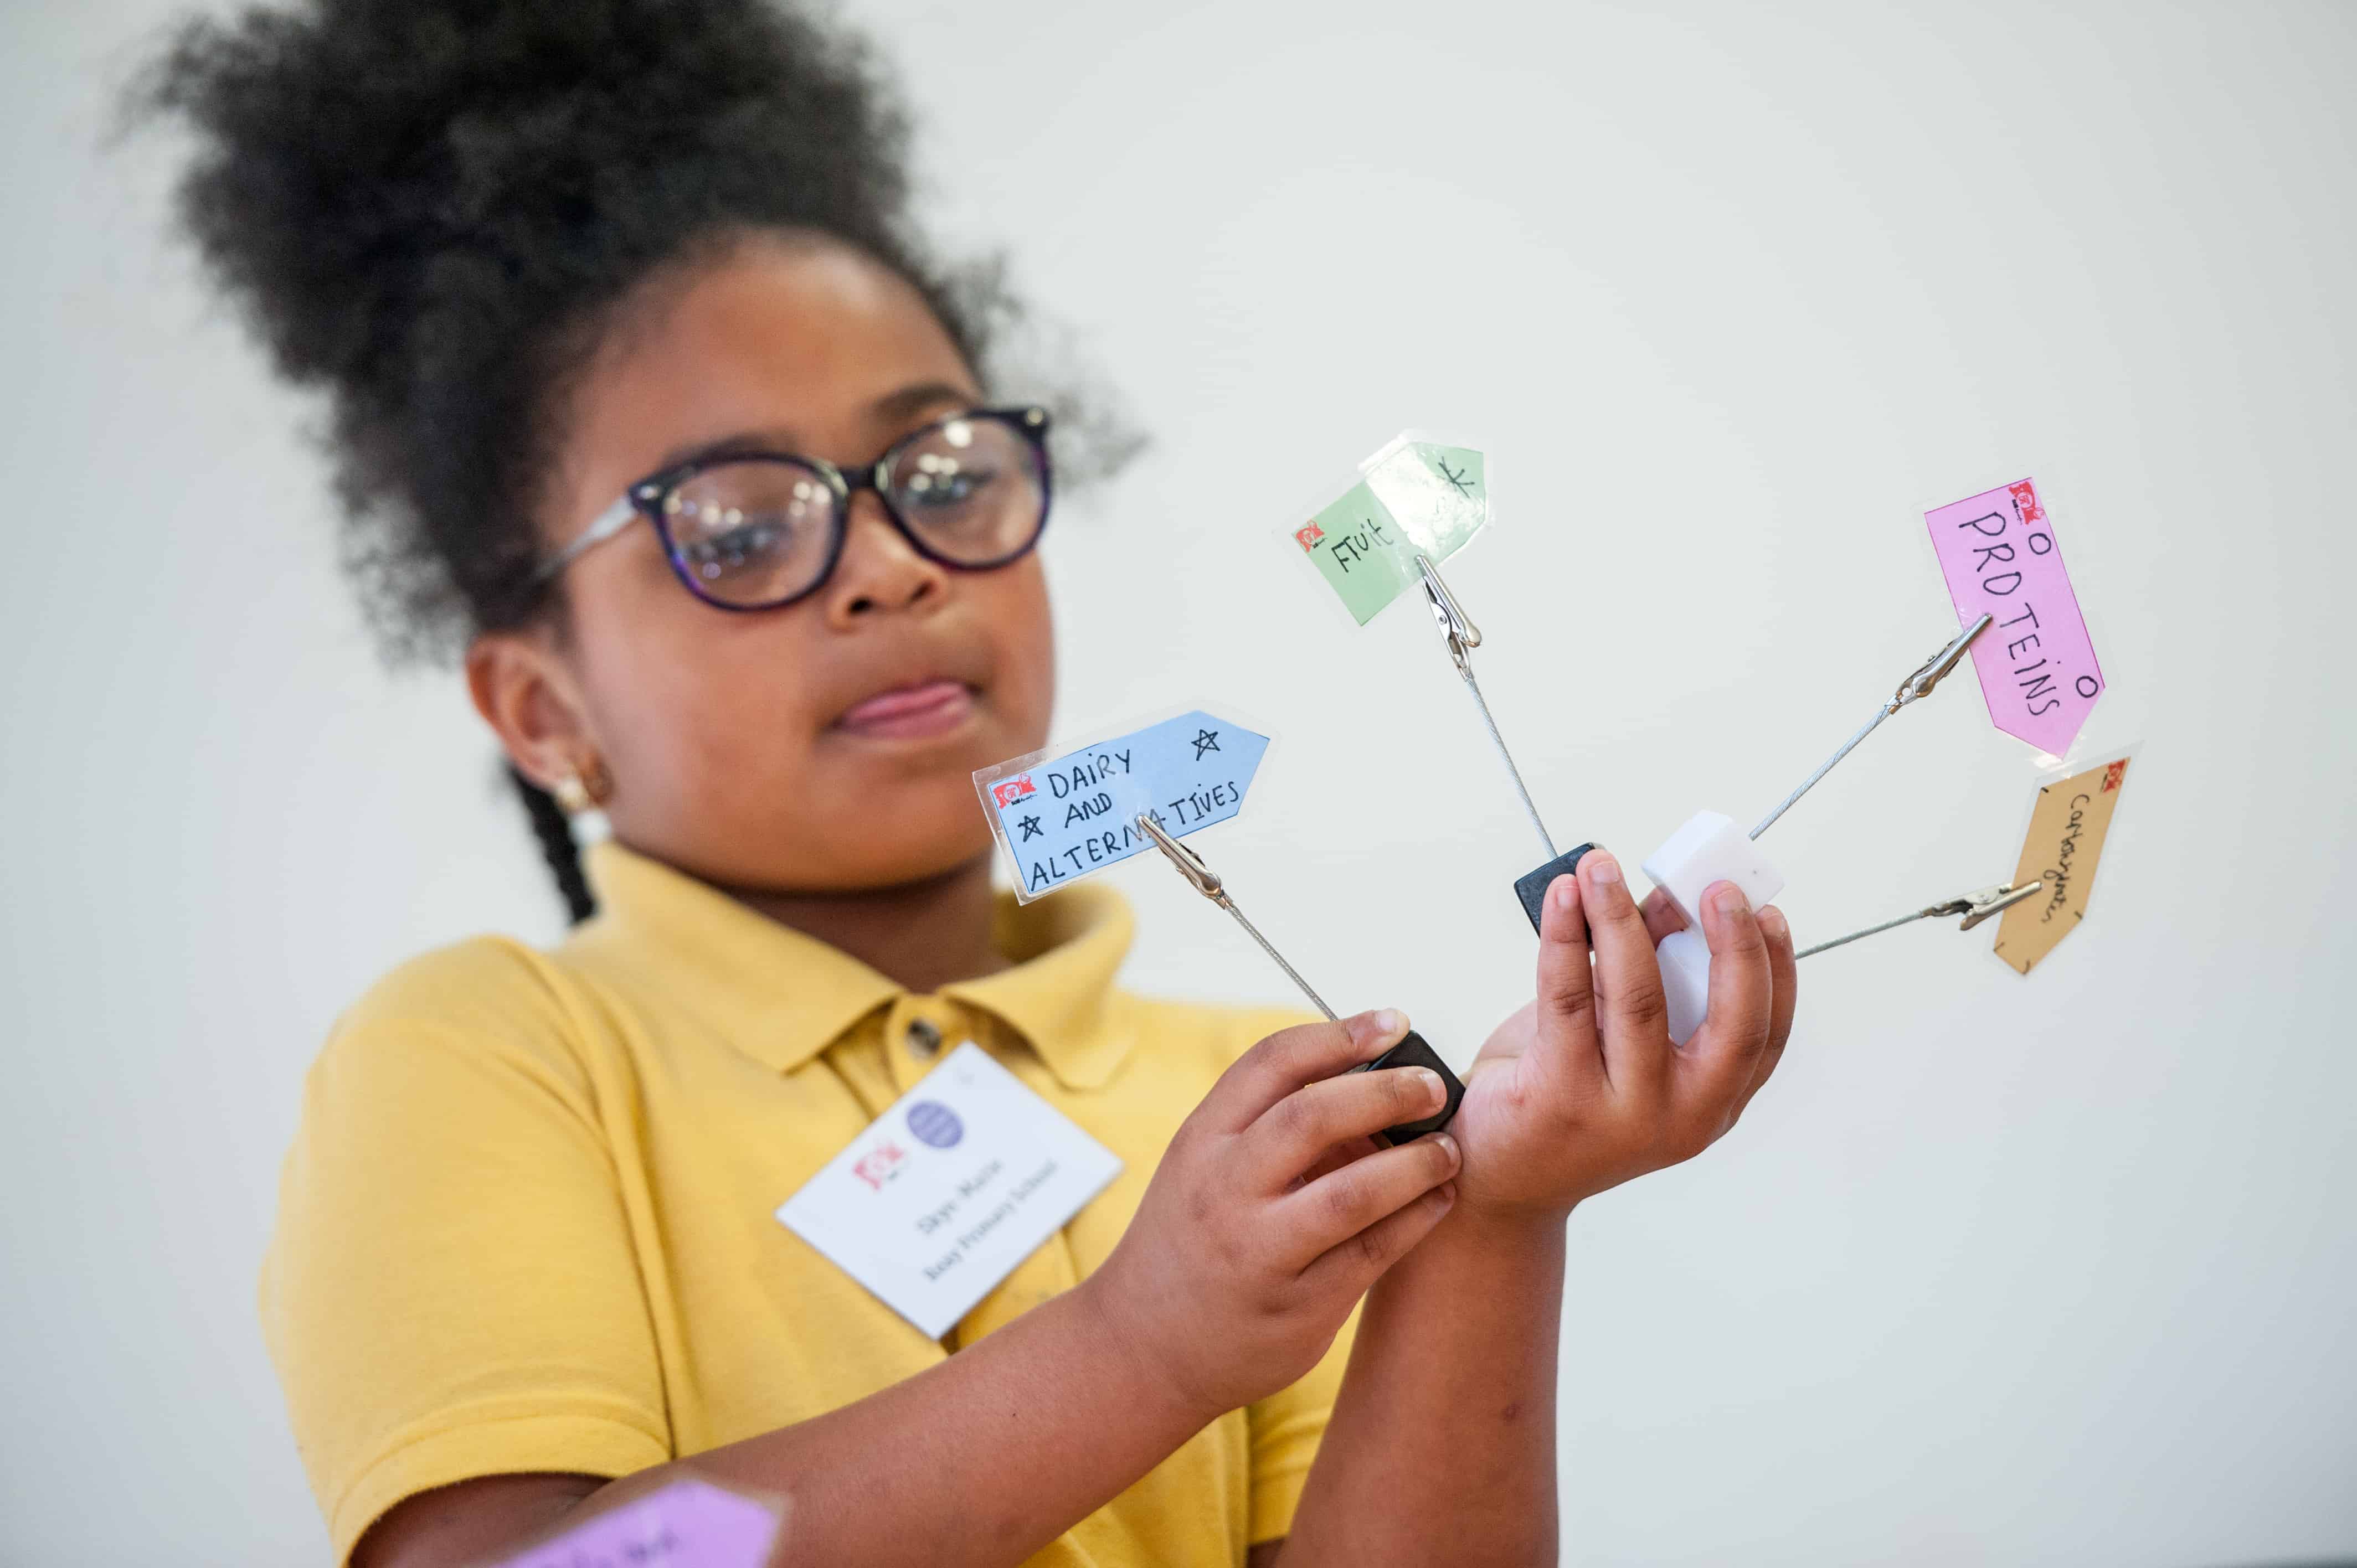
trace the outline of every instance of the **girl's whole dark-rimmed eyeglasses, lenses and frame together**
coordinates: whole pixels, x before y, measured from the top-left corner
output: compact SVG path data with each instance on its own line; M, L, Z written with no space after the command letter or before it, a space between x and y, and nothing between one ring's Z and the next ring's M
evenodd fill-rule
M724 611L775 611L834 575L860 490L877 493L929 561L957 571L1018 561L1047 531L1047 410L950 415L849 472L792 453L691 457L629 486L540 566L533 587L643 516L691 594Z

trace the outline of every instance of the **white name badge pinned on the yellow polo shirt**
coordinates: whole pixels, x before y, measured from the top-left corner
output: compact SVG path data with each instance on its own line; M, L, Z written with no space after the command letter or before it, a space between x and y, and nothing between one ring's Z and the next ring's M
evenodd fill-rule
M778 1205L778 1221L940 1339L1122 1174L971 1040Z

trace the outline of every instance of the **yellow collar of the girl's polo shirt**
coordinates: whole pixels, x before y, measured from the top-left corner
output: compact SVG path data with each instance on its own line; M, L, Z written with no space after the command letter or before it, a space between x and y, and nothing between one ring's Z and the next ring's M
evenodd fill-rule
M907 995L849 953L613 839L592 844L585 868L599 913L566 953L629 971L778 1073ZM1113 997L1134 934L1110 887L1028 905L999 894L992 941L1014 964L940 995L1014 1028L1068 1089L1094 1089L1129 1054Z

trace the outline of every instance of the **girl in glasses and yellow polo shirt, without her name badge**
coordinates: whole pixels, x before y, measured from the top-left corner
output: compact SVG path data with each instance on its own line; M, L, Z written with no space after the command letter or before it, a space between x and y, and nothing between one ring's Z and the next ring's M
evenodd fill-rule
M1398 1014L1134 997L1113 891L992 894L1049 413L992 401L851 42L311 0L191 24L153 92L205 257L328 391L370 608L464 646L582 917L396 969L309 1078L262 1313L337 1556L481 1561L691 1471L783 1495L794 1563L1556 1561L1565 1214L1775 1068L1782 917L1714 894L1676 1049L1676 915L1591 854L1452 1132L1379 1146L1440 1101L1343 1075ZM933 1342L771 1212L966 1040L1127 1170Z

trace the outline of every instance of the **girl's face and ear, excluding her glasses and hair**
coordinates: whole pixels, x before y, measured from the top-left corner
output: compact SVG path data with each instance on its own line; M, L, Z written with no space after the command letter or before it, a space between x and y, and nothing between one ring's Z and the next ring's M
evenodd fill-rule
M900 276L825 241L750 241L625 311L561 424L542 547L688 448L849 469L978 403ZM1047 740L1039 556L938 566L872 490L834 575L778 611L702 604L643 521L575 559L563 592L561 639L478 644L476 703L549 778L601 762L615 835L724 887L860 891L964 865L990 851L971 773Z

